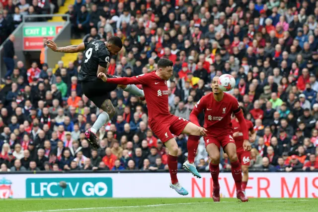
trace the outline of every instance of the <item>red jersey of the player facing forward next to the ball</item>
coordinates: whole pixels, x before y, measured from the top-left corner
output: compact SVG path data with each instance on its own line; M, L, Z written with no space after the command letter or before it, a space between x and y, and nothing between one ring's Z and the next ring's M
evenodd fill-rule
M231 114L240 111L239 102L230 94L224 93L223 100L217 102L213 93L201 98L194 106L190 121L199 125L198 115L204 110L204 127L210 136L219 136L225 133L233 133Z

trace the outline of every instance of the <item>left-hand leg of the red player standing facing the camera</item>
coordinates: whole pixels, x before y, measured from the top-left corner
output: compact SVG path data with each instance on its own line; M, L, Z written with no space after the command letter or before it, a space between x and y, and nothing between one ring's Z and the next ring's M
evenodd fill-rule
M214 202L220 202L220 143L213 137L204 138L206 150L210 156L210 173L213 181L213 194L212 198Z

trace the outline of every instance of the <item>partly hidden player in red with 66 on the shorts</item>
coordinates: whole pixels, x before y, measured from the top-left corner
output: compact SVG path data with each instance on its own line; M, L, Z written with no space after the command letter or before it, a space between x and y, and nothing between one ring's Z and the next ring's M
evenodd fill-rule
M246 111L244 107L240 107L243 111L244 117L246 117ZM248 181L248 167L249 167L249 160L250 160L250 151L244 151L243 148L243 133L240 130L240 124L238 118L235 117L234 114L232 114L232 127L233 127L233 138L235 140L235 144L237 146L237 155L239 158L239 162L241 164L243 177L242 177L242 191L245 193L245 188L247 186ZM250 141L253 143L255 139L255 132L253 129L253 123L250 120L245 119L247 130L250 133Z

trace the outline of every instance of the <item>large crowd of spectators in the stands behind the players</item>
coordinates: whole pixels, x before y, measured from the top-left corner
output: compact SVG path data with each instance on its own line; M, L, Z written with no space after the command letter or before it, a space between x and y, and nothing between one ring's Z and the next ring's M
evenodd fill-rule
M76 0L68 8L72 33L86 34L84 42L122 38L109 74L137 76L156 70L159 58L172 60L168 99L177 116L189 119L215 75L233 75L230 93L257 135L251 168L318 170L318 1ZM8 70L0 91L1 171L166 169L167 150L148 126L147 100L120 89L110 95L116 115L97 132L100 148L90 148L83 132L100 109L78 84L82 59L79 53L69 64L60 61L55 72L18 60ZM181 168L187 137L176 141ZM202 139L197 152L198 169L208 170ZM226 154L220 166L231 169Z

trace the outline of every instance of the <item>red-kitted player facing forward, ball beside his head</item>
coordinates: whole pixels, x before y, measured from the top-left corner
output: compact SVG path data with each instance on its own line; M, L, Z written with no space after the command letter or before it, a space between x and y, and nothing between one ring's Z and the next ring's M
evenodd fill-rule
M231 114L234 113L239 119L244 138L244 150L250 151L251 145L248 142L246 122L239 108L239 102L233 96L219 89L218 80L218 76L213 78L211 85L213 93L202 97L197 102L190 114L190 121L199 126L197 116L204 110L204 128L207 129L207 136L204 137L204 141L206 150L211 158L210 172L213 180L213 201L220 202L219 163L220 147L222 146L231 162L232 176L237 187L237 198L242 202L247 202L248 199L241 190L241 167L232 134Z

